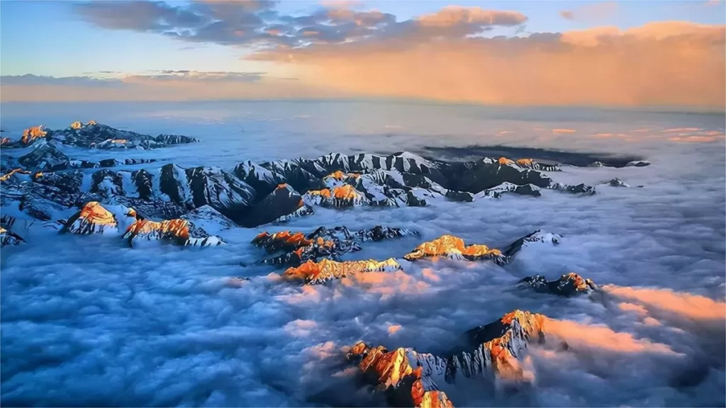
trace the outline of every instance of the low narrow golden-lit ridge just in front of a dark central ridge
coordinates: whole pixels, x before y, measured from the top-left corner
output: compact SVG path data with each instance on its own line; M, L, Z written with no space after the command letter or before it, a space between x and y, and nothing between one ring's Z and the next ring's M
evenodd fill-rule
M363 272L391 272L401 269L401 265L393 258L388 258L386 261L369 259L345 262L323 259L319 262L307 261L301 266L290 267L282 274L282 278L290 281L303 281L308 285L319 285Z

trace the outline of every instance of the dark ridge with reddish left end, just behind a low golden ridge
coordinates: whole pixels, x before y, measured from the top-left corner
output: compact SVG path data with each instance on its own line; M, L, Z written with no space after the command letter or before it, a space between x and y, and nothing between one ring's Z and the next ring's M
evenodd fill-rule
M280 255L264 259L260 262L261 264L297 266L304 261L317 261L319 258L339 261L343 253L361 250L362 242L378 242L409 235L417 236L418 232L380 225L355 232L351 232L346 227L332 229L319 227L307 235L302 232L290 233L288 231L274 234L263 232L252 240L252 244L264 248L267 253L282 252Z

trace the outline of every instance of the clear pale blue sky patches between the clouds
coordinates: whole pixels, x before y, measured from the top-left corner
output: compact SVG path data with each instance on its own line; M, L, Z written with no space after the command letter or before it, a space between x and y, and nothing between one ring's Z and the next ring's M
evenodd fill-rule
M111 0L113 1L113 0ZM706 1L620 1L614 12L566 20L563 10L588 6L584 1L461 1L466 7L513 10L529 17L527 32L563 32L614 25L632 28L650 21L688 20L723 24L721 3ZM171 4L183 4L175 2ZM407 20L433 13L450 1L365 1L358 8L379 9ZM144 73L147 70L265 71L284 75L270 62L240 60L245 49L216 44L189 44L152 33L96 28L75 15L70 1L0 1L0 71L4 76L81 76L97 71ZM316 1L281 1L277 9L290 15L321 7ZM493 33L512 33L510 28Z

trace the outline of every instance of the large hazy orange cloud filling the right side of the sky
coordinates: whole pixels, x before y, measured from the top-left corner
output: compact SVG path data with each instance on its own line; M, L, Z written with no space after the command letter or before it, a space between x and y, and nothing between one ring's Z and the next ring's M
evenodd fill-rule
M320 44L250 58L310 67L310 83L355 95L724 107L725 44L722 25L666 22L528 38Z

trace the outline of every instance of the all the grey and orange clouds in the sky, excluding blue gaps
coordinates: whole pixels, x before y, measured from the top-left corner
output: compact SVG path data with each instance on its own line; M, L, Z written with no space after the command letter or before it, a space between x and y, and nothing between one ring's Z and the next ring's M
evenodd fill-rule
M726 106L724 25L664 21L627 30L604 26L523 36L529 17L520 12L448 6L399 21L359 6L329 2L286 15L272 1L102 1L74 4L73 10L102 29L237 47L243 59L290 66L301 79L291 84L248 76L255 86L216 81L200 91L188 83L206 78L176 76L171 78L176 89L167 83L159 92L146 92L160 99L345 95L504 105ZM560 15L592 20L613 12L616 4L593 7ZM495 28L511 33L492 36ZM63 84L68 89L47 85L21 86L3 77L2 99L142 97L128 85L91 96L87 90L73 92L76 85L70 83Z

